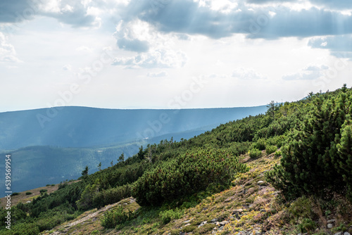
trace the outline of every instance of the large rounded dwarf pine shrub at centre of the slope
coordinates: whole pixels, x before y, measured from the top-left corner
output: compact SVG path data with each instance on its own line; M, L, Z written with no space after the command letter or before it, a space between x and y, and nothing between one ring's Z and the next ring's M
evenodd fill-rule
M204 191L210 184L230 185L234 174L246 170L229 151L195 149L144 172L132 196L139 205L161 205Z

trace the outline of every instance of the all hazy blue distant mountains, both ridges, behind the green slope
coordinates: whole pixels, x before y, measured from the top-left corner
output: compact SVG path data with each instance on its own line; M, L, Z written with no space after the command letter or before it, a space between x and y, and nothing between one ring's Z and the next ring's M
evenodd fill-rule
M130 157L140 146L189 139L266 106L184 110L43 108L0 113L0 154L12 155L13 191L77 179ZM0 162L0 169L5 169ZM2 171L2 170L1 170ZM0 179L3 184L4 179Z

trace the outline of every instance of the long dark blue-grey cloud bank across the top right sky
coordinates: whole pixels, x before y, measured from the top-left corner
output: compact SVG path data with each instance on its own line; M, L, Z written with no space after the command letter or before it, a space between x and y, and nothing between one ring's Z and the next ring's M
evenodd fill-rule
M249 38L263 39L352 33L352 16L339 11L316 7L298 11L287 4L252 8L241 1L240 4L225 7L228 11L222 11L221 7L214 8L215 2L166 1L156 8L149 1L131 0L122 17L125 20L138 18L160 32L203 34L213 39L237 33L244 33Z

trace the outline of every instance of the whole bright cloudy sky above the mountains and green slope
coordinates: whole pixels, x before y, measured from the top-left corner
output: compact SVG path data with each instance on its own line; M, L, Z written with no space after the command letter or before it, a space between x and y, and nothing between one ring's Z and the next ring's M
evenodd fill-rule
M351 68L351 0L0 1L0 112L261 106Z

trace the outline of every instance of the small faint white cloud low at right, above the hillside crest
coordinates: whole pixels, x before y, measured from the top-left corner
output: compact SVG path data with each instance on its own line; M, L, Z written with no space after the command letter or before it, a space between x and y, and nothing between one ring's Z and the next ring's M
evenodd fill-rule
M282 76L283 80L317 80L324 77L329 67L327 65L308 65L299 72Z

